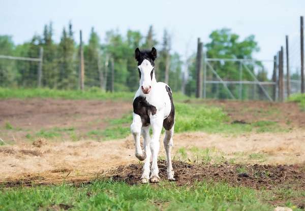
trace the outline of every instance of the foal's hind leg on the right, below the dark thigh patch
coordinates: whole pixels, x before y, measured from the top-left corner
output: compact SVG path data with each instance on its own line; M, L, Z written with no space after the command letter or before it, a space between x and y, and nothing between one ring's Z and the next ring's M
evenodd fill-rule
M175 180L173 166L171 162L171 148L173 146L173 138L172 138L173 134L174 134L174 125L170 130L165 130L165 137L163 139L163 144L167 156L167 179L171 181Z

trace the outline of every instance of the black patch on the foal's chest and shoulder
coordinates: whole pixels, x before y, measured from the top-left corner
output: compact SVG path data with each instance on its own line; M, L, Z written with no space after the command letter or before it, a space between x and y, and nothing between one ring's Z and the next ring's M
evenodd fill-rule
M149 114L155 115L157 113L156 107L147 102L146 97L138 96L133 101L134 113L139 115L144 127L150 124Z

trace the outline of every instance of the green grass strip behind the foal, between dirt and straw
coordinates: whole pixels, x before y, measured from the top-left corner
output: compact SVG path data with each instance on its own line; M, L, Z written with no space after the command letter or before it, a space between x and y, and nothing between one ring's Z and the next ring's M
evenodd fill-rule
M207 107L202 104L175 103L175 132L204 131L208 133L244 133L244 132L278 132L284 131L277 122L258 121L252 124L232 124L223 109ZM105 130L92 130L87 133L91 138L117 139L130 134L132 112L123 118L109 120ZM163 130L164 132L164 130Z

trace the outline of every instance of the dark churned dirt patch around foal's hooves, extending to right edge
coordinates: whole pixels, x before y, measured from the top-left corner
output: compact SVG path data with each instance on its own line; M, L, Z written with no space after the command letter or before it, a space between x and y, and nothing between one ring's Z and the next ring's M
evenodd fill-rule
M166 162L158 163L160 177L166 180ZM195 181L216 181L226 182L232 186L246 186L255 189L262 187L272 189L274 187L286 186L305 189L305 171L302 170L305 164L301 165L243 165L245 169L239 172L239 164L230 165L223 163L220 165L210 164L189 164L175 161L175 183L177 185L190 185ZM142 165L130 164L119 166L112 170L111 177L115 181L124 181L128 184L138 184L141 177Z

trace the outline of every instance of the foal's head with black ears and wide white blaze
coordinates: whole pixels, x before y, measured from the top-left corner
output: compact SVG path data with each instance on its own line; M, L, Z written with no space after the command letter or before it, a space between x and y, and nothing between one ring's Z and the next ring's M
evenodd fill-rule
M155 59L157 58L156 48L151 50L142 50L139 48L135 50L135 57L138 61L138 71L140 77L140 87L144 94L150 92L151 86L156 82L155 78Z

